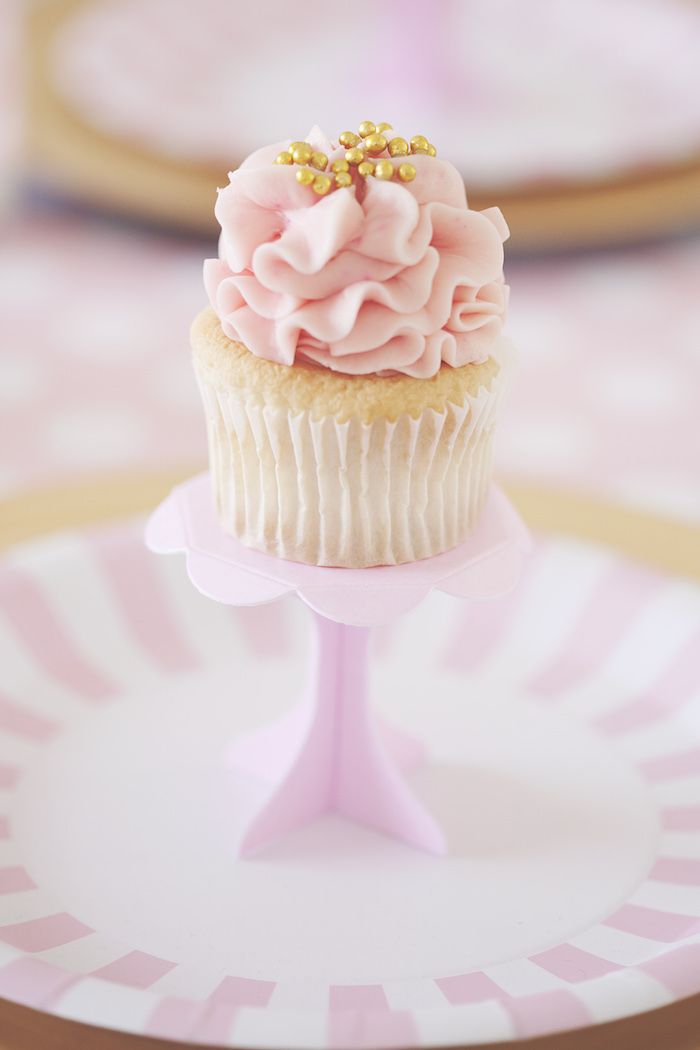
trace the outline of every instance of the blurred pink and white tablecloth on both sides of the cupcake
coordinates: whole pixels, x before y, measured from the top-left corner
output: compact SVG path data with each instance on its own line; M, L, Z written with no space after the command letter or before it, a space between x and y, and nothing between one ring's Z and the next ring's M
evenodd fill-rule
M188 330L212 246L76 217L0 245L0 492L198 468ZM700 246L514 261L503 478L700 521Z

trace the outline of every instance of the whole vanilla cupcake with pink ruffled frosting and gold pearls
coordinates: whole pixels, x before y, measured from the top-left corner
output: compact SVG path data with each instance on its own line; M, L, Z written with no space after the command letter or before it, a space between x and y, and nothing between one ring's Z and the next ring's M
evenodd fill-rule
M349 568L464 542L512 357L499 209L366 122L251 154L215 213L192 349L222 528Z

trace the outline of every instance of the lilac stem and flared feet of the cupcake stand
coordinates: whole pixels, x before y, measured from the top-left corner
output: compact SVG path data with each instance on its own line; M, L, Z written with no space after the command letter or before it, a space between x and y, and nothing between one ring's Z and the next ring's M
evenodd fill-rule
M421 759L421 744L380 728L372 717L369 628L338 624L317 612L314 620L305 698L277 723L234 747L238 769L275 784L248 826L239 853L250 854L335 811L412 846L444 854L441 828L399 772L399 765Z

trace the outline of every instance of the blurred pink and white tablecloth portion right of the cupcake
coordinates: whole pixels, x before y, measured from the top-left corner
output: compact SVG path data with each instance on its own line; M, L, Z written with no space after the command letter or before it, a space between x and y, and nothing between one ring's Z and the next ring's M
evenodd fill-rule
M700 244L507 267L500 467L700 521Z

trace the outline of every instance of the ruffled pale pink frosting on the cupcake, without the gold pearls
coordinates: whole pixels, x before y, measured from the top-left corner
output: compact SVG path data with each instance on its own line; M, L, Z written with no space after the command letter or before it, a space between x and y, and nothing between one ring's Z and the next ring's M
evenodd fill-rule
M318 129L307 141L344 155ZM219 190L205 285L224 332L258 357L354 375L486 360L508 293L499 209L472 211L457 169L427 155L410 158L411 183L356 176L318 196L273 163L288 146L252 153Z

